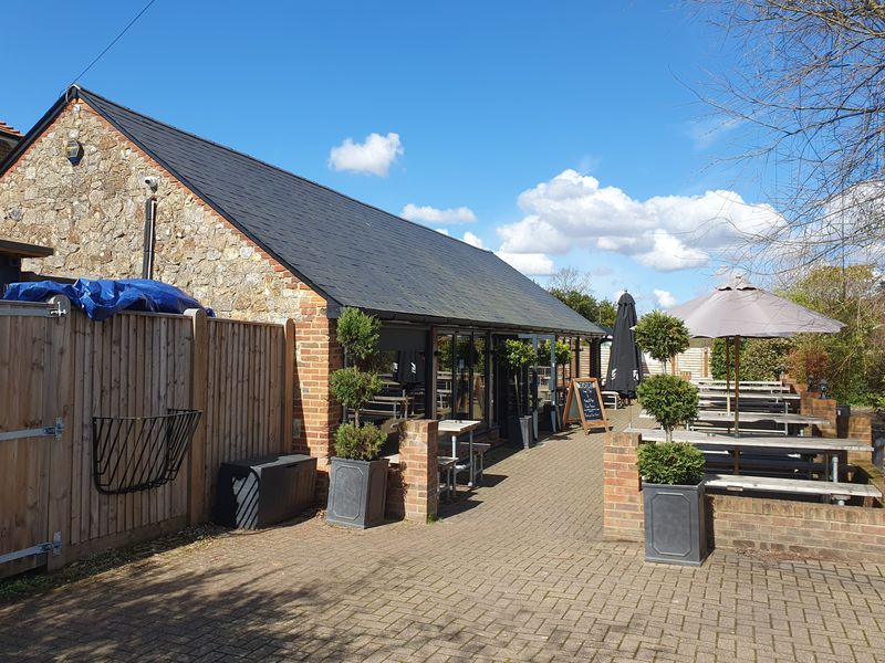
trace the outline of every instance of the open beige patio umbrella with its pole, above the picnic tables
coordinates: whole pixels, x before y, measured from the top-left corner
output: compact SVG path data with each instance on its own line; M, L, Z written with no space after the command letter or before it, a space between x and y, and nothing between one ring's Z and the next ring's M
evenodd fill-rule
M779 297L738 276L669 311L685 322L691 336L735 343L735 434L739 432L740 339L789 338L796 334L837 334L844 323ZM727 401L730 385L726 382Z

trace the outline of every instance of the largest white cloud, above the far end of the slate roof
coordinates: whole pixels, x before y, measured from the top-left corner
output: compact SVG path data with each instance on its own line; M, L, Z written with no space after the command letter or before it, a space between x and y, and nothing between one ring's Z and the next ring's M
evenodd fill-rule
M577 245L631 255L662 272L707 265L737 241L783 224L771 207L733 191L639 201L574 170L523 191L519 206L527 215L497 229L506 253L563 254Z

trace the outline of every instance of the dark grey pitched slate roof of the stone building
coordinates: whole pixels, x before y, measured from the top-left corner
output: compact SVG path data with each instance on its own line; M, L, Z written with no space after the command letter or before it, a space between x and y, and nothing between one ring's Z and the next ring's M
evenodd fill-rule
M74 95L331 299L331 309L339 304L388 319L602 333L489 251L146 117L93 92L74 87L63 99ZM50 114L41 124L45 125Z

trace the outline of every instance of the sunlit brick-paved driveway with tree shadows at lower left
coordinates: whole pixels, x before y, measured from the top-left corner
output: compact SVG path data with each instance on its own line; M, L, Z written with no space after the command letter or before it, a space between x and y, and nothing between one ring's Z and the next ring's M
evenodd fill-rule
M601 446L510 455L430 526L232 534L0 608L0 660L885 660L883 568L603 543Z

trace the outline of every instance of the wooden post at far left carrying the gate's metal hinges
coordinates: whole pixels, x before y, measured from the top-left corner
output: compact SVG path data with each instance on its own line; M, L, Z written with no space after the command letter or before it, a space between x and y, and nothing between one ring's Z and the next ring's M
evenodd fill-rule
M56 532L61 533L62 548L60 555L46 555L46 568L58 569L66 564L67 550L71 546L71 480L74 452L74 313L67 297L53 297L51 302L60 302L67 313L58 318L48 318L46 349L43 355L43 423L54 423L62 418L60 439L50 440L49 472L42 477L49 483L46 491L46 522L49 540L53 540ZM38 486L40 490L41 486Z

